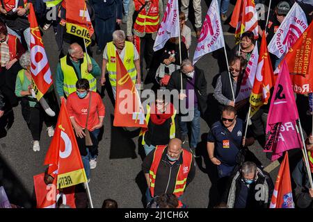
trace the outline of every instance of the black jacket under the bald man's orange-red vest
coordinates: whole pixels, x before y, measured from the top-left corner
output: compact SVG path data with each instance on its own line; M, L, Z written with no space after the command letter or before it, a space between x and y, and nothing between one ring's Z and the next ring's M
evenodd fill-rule
M147 155L147 157L145 157L145 160L143 160L142 164L143 173L149 173L150 167L152 166L152 162L154 159L154 152L155 149L151 151ZM168 148L165 148L163 151L163 155L161 157L161 161L155 179L154 196L159 196L161 194L172 194L174 192L179 166L183 163L182 155L180 155L179 160L177 160L175 164L171 165L170 162L168 162L168 157L166 157L167 152ZM184 150L184 152L188 151ZM187 185L193 180L194 177L195 177L195 159L193 158L191 163L191 169L188 173ZM167 190L166 187L168 187Z

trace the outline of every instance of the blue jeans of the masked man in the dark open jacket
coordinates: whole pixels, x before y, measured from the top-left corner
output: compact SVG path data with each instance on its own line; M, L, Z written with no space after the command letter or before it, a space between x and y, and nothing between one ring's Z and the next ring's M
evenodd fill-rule
M191 142L190 147L195 148L198 145L199 136L200 136L200 111L198 106L195 106L194 110L190 112L194 112L194 117L191 121ZM186 136L188 134L188 128L186 121L182 121L182 117L179 118L179 126L180 130L182 131L182 135Z

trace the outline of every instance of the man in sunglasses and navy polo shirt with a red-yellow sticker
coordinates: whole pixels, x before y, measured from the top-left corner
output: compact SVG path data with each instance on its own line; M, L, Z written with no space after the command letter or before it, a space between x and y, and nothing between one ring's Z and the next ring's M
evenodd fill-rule
M223 108L222 117L211 126L207 137L207 152L211 162L218 169L218 191L223 194L225 183L232 175L237 163L237 155L242 146L252 145L253 138L244 139L243 121L236 116L231 105Z

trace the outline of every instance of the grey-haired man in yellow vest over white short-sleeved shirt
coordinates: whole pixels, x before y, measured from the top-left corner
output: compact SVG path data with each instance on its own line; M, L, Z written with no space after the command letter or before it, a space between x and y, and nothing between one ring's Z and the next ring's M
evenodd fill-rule
M114 31L113 42L108 42L104 48L101 75L101 84L104 85L106 83L106 70L109 72L114 99L116 99L116 51L118 51L133 83L141 84L141 66L136 47L131 42L125 41L124 31Z

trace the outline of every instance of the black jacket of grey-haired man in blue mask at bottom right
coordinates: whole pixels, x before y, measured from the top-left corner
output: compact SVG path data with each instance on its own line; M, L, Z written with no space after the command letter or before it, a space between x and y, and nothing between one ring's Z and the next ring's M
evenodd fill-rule
M239 174L238 174L239 173ZM231 192L232 192L232 185L233 181L235 182L236 190L234 191L234 205L236 204L236 198L238 198L239 193L241 191L241 187L245 186L243 182L241 181L242 176L241 172L238 171L236 175L232 176L232 178L229 180L229 184L227 185L227 188L225 190L225 193L222 198L223 203L227 203L228 199L230 198ZM265 196L262 195L262 189L264 189L264 182L266 181L266 184L268 186L268 198L265 199ZM271 176L269 176L268 173L265 171L262 171L260 169L257 169L257 180L253 182L249 187L249 193L248 198L246 202L246 208L268 208L271 203L271 197L273 194L273 180L271 179ZM256 198L259 198L257 200ZM230 200L231 201L231 200ZM227 203L229 204L229 203ZM231 206L228 206L231 207Z

